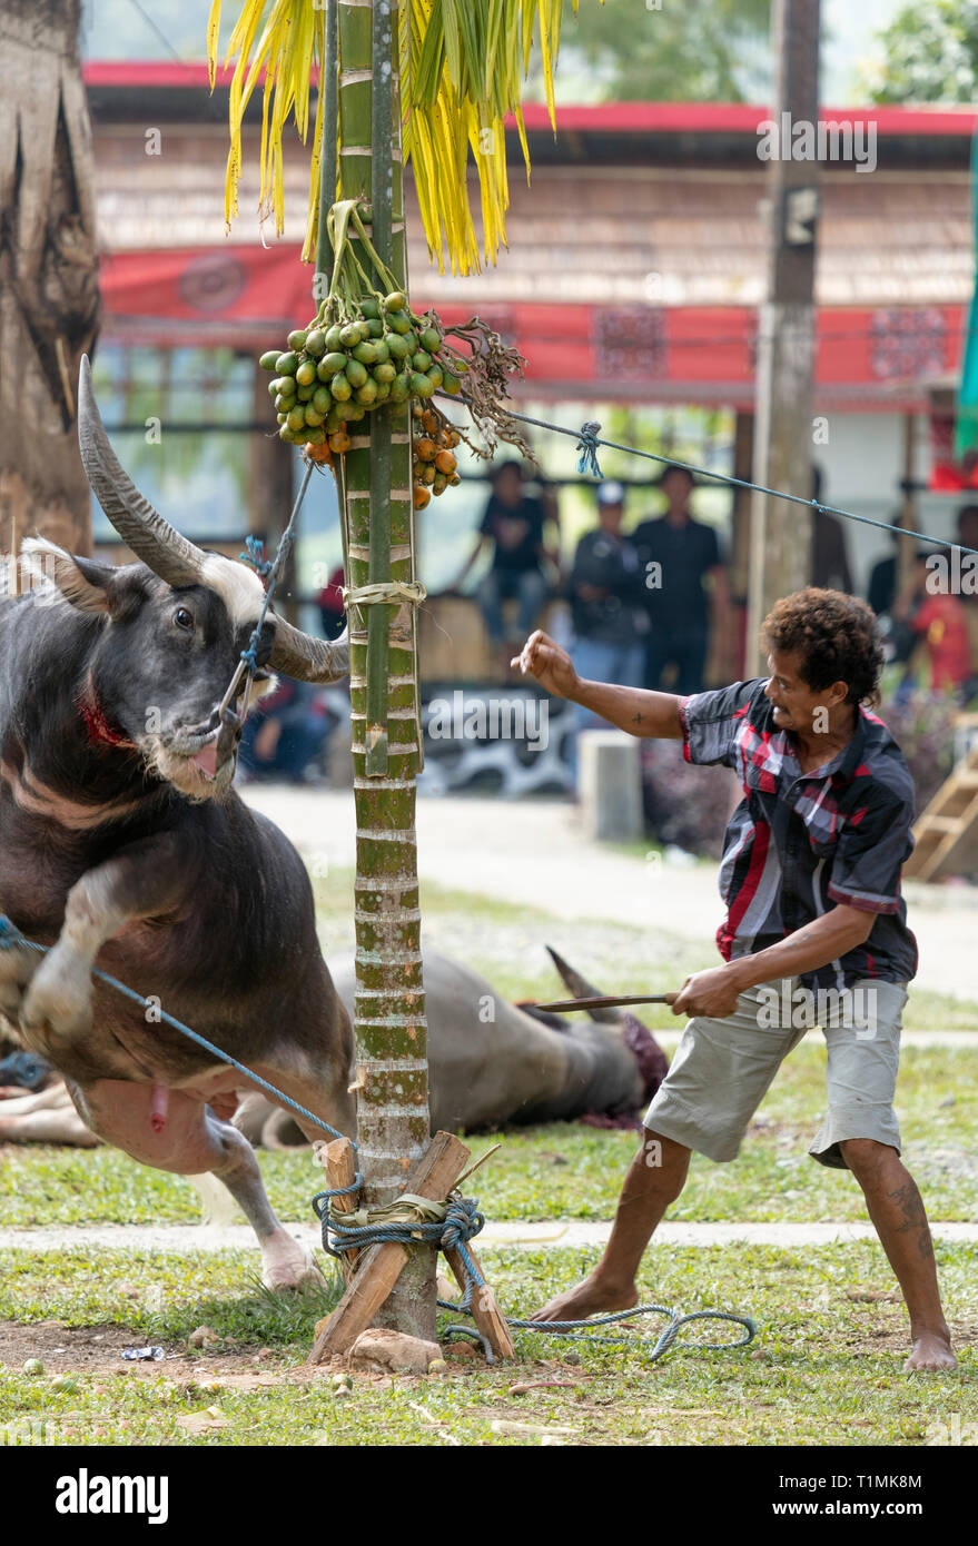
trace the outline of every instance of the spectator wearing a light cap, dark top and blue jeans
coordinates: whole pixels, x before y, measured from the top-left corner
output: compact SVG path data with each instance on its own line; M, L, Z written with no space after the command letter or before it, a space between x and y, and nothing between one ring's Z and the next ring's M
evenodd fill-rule
M602 482L597 490L597 526L577 543L571 567L571 620L574 668L594 682L639 686L644 669L642 575L639 555L622 536L625 490L621 482ZM577 731L600 725L580 705ZM576 770L574 745L574 770Z

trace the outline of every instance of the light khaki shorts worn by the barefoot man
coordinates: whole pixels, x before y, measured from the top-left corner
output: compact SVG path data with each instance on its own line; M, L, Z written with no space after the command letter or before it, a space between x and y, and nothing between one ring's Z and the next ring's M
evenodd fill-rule
M905 983L862 979L846 994L805 1000L797 989L797 977L749 988L726 1019L689 1020L645 1127L709 1160L735 1160L781 1062L814 1022L828 1048L828 1112L809 1155L846 1170L839 1147L846 1138L899 1153L893 1093Z

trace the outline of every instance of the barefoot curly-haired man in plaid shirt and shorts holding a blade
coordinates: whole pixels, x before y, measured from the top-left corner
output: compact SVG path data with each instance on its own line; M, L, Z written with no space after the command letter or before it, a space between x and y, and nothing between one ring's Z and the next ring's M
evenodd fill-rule
M899 1158L893 1112L901 1010L916 971L899 892L913 782L887 727L862 707L876 699L882 668L877 626L865 601L806 589L777 603L763 638L768 680L692 697L580 680L542 632L518 659L549 693L634 736L682 739L687 761L732 767L744 788L720 872L723 965L687 977L673 1005L692 1019L645 1115L602 1260L535 1319L638 1302L636 1269L682 1190L690 1150L718 1163L737 1156L781 1061L805 1034L805 1016L772 1010L788 979L792 1005L798 986L802 1003L837 989L834 1008L819 1008L828 1113L809 1153L850 1169L862 1186L910 1311L905 1368L953 1368L927 1217ZM868 1003L870 1013L853 1019L846 1003Z

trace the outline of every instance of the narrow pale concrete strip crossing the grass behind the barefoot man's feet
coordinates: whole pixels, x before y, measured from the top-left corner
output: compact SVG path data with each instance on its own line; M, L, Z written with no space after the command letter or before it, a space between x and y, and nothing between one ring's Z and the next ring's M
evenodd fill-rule
M306 1246L319 1246L314 1224L289 1223L288 1231ZM955 1245L978 1243L978 1224L932 1221L938 1240ZM508 1251L546 1248L600 1248L611 1224L607 1221L548 1220L543 1223L489 1223L478 1237L480 1251L504 1246ZM876 1240L867 1223L814 1224L679 1224L664 1223L656 1231L659 1246L757 1245L800 1249L831 1245L834 1240ZM255 1237L248 1224L60 1224L43 1229L0 1229L2 1251L65 1251L71 1246L116 1251L249 1251Z

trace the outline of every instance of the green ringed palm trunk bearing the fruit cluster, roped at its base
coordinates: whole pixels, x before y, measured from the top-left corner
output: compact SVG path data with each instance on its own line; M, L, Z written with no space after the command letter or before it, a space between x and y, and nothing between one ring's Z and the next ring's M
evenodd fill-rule
M371 238L407 289L396 5L339 0L339 187L371 199ZM322 213L322 212L320 212ZM361 254L370 272L367 254ZM344 467L347 584L413 580L410 408L351 425ZM404 1190L430 1133L415 838L418 660L413 608L350 608L357 822L356 1011L365 1201ZM401 1274L384 1319L435 1333L433 1252Z

